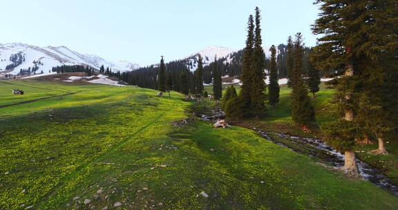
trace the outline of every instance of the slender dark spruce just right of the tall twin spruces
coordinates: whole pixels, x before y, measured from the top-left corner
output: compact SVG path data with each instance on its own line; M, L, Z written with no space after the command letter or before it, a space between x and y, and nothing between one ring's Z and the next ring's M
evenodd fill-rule
M268 85L268 103L275 106L279 102L279 84L278 69L276 68L276 47L274 45L269 48L271 51L271 61L269 63L269 85Z

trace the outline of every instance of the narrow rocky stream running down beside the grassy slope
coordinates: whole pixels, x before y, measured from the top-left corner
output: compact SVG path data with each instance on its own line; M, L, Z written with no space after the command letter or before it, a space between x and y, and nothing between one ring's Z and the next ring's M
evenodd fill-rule
M213 115L200 115L200 118L207 122L214 122L217 119L224 118L224 113L222 111L214 112ZM274 142L280 146L286 147L296 153L301 153L304 155L308 155L310 157L319 158L324 162L338 168L344 165L344 155L339 151L336 151L328 144L325 144L322 140L309 138L309 137L300 137L297 135L289 135L286 133L277 133L277 132L265 132L260 131L258 128L252 128L254 131L258 132L258 134L263 137L265 140ZM278 138L289 142L289 144L283 144L280 140L276 140L272 135L276 135ZM294 144L296 146L291 146L290 144ZM373 184L376 184L377 187L384 189L396 197L398 197L398 187L393 184L386 175L383 175L379 172L379 170L372 168L365 162L357 159L357 164L359 168L359 172L364 180L368 180Z

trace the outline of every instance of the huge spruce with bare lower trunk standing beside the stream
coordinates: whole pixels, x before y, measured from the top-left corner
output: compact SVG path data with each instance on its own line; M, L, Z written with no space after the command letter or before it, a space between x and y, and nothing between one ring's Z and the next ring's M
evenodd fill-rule
M314 48L315 67L323 70L345 68L345 75L339 79L335 95L342 119L325 124L326 140L334 148L343 151L345 162L343 170L348 175L359 176L355 160L354 145L357 126L354 113L357 109L357 95L361 92L360 78L363 61L368 60L366 44L368 36L363 26L372 20L366 14L370 1L317 0L321 5L319 19L312 31L323 35Z

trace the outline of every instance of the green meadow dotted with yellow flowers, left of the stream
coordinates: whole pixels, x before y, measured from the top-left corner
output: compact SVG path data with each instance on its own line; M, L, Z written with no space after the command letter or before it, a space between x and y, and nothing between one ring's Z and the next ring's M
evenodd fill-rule
M192 105L178 93L11 83L0 83L0 106L26 103L0 108L0 209L88 209L85 199L93 209L398 207L370 182L348 180L248 129L172 126ZM10 96L8 88L22 85L26 95ZM74 94L29 102L66 91Z

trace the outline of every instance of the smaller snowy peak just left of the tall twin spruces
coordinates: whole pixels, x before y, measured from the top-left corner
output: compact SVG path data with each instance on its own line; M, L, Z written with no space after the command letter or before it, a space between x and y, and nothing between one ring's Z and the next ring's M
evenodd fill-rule
M218 59L226 58L228 61L232 55L232 53L237 52L238 50L234 50L231 48L225 48L220 46L209 46L203 50L200 50L197 53L193 53L187 56L187 66L191 71L196 70L198 68L198 56L201 55L203 58L203 66L208 66L211 62L214 62L214 57L217 55Z

